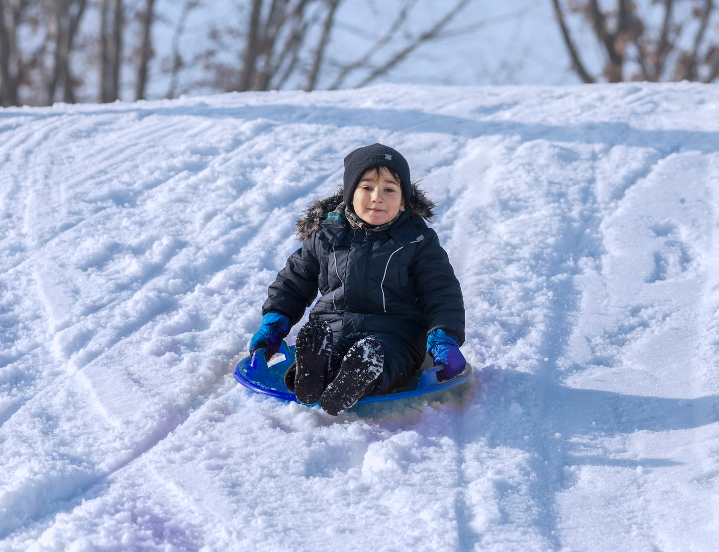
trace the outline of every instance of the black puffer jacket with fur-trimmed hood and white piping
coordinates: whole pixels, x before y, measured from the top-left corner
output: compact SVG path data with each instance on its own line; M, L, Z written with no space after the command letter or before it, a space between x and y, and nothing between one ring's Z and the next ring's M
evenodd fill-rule
M416 363L425 356L427 334L438 327L462 345L462 290L424 221L433 217L434 204L415 187L410 209L388 230L365 233L323 220L340 202L341 192L318 200L298 221L302 247L270 285L262 315L280 312L295 325L319 290L311 320L326 320L347 338L394 335Z

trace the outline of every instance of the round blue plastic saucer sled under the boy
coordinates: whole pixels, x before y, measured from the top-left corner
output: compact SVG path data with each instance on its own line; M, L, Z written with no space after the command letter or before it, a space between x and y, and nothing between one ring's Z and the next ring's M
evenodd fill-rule
M267 361L265 361L265 349L260 348L255 350L252 356L243 358L242 361L239 361L237 366L234 367L234 379L237 379L237 381L245 387L249 387L249 389L253 389L257 392L272 395L279 399L285 399L286 401L298 402L295 394L285 387L285 372L295 361L295 346L290 346L283 341L278 354L285 356L285 359L283 361L273 362L275 358L277 358L277 356L273 356L273 358L270 359L270 363L267 363ZM474 373L474 368L472 368L470 363L467 363L467 368L464 368L461 374L447 381L439 382L437 381L436 372L442 368L444 368L443 364L432 366L432 359L428 355L425 358L421 370L416 371L407 384L386 395L370 395L370 397L365 397L357 402L357 404L394 401L444 391L445 389L462 385L470 379Z

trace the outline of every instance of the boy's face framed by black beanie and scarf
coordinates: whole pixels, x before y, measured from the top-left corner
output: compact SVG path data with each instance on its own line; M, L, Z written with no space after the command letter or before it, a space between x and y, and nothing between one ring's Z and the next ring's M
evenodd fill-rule
M352 207L368 225L383 225L405 209L402 186L387 167L371 168L354 189Z

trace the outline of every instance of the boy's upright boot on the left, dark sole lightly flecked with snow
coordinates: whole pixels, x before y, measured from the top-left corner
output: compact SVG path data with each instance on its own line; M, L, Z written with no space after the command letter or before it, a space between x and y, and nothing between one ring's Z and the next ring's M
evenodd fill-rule
M332 350L332 329L327 322L307 322L295 343L295 395L299 402L315 404L327 385Z

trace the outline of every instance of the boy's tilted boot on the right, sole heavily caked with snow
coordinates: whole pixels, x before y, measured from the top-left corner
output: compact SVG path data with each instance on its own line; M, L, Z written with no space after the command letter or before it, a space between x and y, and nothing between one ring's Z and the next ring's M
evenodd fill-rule
M385 353L382 345L372 338L363 338L347 351L339 374L327 386L320 398L321 407L339 416L354 403L367 396L382 374Z

